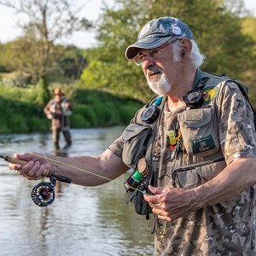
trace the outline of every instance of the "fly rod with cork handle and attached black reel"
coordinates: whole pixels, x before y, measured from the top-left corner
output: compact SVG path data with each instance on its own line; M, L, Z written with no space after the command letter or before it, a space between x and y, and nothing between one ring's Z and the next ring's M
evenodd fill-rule
M11 164L21 166L25 166L27 164L25 160L19 160L8 155L0 155L0 158L3 158L3 160ZM55 201L55 185L57 180L62 183L71 183L71 179L53 172L49 172L47 169L44 170L42 176L49 177L49 182L38 183L36 186L34 186L31 191L31 197L32 201L38 207L47 207L52 204L53 201Z

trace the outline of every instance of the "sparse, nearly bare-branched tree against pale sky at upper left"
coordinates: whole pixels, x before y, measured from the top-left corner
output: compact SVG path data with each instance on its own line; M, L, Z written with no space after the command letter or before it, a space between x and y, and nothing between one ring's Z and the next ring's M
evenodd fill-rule
M57 39L91 27L88 20L79 18L81 6L71 0L0 0L0 4L28 18L23 24L24 34L19 44L14 42L12 51L20 71L28 74L34 83L45 79L55 66L55 55L63 54L55 49Z

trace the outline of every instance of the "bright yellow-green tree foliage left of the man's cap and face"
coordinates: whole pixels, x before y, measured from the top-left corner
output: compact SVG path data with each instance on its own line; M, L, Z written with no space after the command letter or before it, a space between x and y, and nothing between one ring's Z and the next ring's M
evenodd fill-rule
M140 101L152 96L141 68L125 59L125 48L129 44L127 42L133 42L137 33L135 27L139 29L138 14L138 11L135 13L125 7L117 11L106 9L97 30L99 47L84 52L89 61L81 76L84 86L114 90ZM134 17L132 21L131 17Z

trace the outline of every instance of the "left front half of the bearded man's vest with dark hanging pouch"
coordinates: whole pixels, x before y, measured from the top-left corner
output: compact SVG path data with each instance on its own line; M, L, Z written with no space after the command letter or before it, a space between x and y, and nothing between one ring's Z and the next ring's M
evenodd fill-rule
M152 146L154 143L154 137L160 123L160 114L164 108L166 102L166 96L162 97L160 104L159 117L154 121L153 124L147 124L143 122L144 111L153 104L157 97L154 97L144 108L140 109L135 118L134 122L131 122L122 134L123 154L122 160L126 166L130 166L131 169L137 169L138 161L143 157L146 159L148 175L143 179L140 185L134 191L127 191L126 202L131 202L132 207L140 215L146 215L149 218L149 214L152 212L148 205L148 202L144 201L143 194L148 193L148 184L156 185L154 179L154 169L152 162Z

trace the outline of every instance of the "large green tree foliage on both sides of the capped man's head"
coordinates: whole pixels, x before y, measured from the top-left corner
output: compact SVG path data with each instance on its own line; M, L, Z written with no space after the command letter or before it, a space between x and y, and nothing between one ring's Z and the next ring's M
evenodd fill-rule
M111 87L120 93L147 100L148 86L139 67L125 60L125 49L137 41L142 26L160 16L178 17L194 33L202 67L210 73L250 82L245 73L253 69L253 38L242 32L241 0L116 0L116 9L106 9L97 33L100 46L87 51L91 60L81 77L84 86ZM231 7L231 8L230 8ZM97 85L96 85L97 84ZM145 99L146 98L146 99Z

